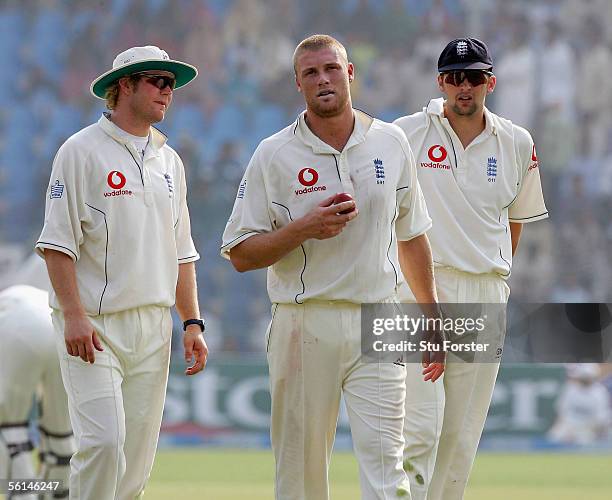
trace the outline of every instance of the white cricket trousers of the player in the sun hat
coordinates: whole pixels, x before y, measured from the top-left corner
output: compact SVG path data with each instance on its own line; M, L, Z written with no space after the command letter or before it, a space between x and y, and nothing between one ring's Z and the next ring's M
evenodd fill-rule
M104 347L93 365L66 352L64 318L53 312L62 379L77 451L70 499L139 498L153 467L161 426L172 318L147 306L90 317Z

